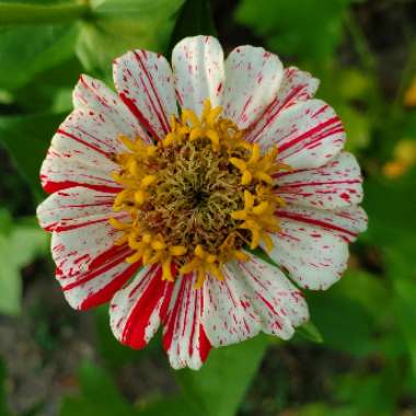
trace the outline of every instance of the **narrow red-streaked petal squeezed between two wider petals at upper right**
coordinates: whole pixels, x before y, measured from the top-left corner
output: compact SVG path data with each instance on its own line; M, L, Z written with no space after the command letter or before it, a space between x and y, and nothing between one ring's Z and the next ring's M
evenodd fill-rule
M268 128L276 117L291 105L307 101L315 94L320 81L313 78L309 72L299 70L298 68L286 68L284 79L276 99L267 107L266 112L258 118L255 126L252 126L247 132L246 140L257 141L263 131Z

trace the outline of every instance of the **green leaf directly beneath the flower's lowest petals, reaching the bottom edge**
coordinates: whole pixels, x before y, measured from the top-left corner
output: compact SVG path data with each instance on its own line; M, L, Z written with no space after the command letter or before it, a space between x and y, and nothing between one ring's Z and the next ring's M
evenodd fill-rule
M239 408L267 348L267 337L213 349L199 371L176 373L185 394L199 408L198 415L232 416Z

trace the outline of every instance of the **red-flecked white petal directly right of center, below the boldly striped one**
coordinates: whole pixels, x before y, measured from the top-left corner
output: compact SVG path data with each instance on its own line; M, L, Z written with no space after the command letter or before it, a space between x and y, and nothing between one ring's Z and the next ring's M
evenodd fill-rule
M276 194L290 204L334 209L362 200L360 166L351 153L340 152L322 167L276 175Z

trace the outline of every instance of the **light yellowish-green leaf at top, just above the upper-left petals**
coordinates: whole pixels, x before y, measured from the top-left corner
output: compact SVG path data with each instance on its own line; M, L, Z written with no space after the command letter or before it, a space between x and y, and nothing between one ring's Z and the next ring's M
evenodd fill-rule
M164 51L184 0L105 0L82 22L77 55L90 71L111 79L112 61L127 50Z

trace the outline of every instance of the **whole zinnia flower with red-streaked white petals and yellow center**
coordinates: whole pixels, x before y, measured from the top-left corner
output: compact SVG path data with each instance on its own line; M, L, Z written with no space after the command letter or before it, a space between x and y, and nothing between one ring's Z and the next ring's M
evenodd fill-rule
M118 94L81 76L41 178L56 277L71 307L111 302L123 344L160 326L173 368L309 319L299 288L326 289L366 229L360 169L319 81L274 54L180 42L172 68L132 50ZM276 265L264 255L268 253Z

